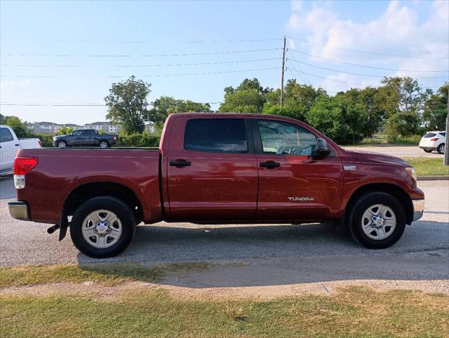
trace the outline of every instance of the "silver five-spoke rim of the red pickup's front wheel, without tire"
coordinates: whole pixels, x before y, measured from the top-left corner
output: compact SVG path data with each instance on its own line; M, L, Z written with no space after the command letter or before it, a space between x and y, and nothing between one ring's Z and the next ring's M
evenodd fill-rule
M371 239L386 239L393 234L395 227L396 215L389 206L374 204L363 213L362 230Z

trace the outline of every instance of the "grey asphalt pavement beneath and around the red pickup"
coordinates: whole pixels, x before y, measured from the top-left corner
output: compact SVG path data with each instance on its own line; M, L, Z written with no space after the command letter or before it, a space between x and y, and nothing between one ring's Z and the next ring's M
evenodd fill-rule
M12 180L0 180L0 265L99 263L58 242L48 225L9 217ZM244 263L190 279L190 287L285 285L329 280L443 280L449 276L449 181L419 182L426 193L422 220L407 227L395 246L367 250L336 225L197 226L159 223L140 226L121 256L101 261L144 264L171 261ZM448 284L449 287L449 284Z

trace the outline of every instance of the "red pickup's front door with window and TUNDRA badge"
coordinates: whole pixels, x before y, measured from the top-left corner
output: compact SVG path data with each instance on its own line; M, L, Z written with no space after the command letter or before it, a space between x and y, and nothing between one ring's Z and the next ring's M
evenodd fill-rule
M343 170L336 151L313 156L316 135L299 124L252 120L260 220L320 220L338 211Z

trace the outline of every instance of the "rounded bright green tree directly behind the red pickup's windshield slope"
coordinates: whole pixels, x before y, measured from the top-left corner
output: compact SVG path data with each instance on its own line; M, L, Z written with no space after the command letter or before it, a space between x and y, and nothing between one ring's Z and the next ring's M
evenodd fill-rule
M307 112L309 124L339 144L362 139L364 118L362 104L355 104L343 94L320 96Z

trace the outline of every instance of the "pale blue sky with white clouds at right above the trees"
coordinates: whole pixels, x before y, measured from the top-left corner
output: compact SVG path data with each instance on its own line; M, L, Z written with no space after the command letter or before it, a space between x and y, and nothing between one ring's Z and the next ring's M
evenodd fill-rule
M219 102L224 87L245 77L279 87L284 35L286 77L330 94L379 84L383 75L422 77L429 87L448 79L449 1L0 4L2 104L103 104L111 83L130 75L152 83L149 101ZM57 123L104 120L106 113L102 106L0 107L4 115Z

